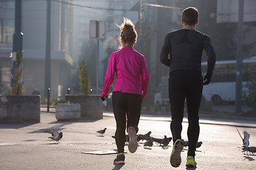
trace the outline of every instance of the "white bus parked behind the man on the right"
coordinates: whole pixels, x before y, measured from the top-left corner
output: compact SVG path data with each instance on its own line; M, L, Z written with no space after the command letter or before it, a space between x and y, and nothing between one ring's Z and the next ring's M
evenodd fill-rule
M206 73L207 62L202 62L202 72ZM242 60L242 91L250 80L250 75L256 76L256 57ZM217 61L210 84L203 86L203 96L206 101L219 105L223 101L235 101L236 60Z

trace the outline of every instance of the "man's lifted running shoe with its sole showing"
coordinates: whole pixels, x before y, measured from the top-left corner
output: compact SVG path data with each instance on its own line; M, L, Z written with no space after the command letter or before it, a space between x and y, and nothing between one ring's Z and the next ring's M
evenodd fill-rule
M173 150L171 152L171 166L178 167L181 164L181 151L183 149L184 143L182 140L176 140L174 143Z

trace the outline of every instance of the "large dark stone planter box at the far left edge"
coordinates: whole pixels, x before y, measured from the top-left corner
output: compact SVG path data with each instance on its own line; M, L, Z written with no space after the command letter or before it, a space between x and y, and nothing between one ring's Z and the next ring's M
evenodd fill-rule
M40 123L40 96L0 96L0 123Z

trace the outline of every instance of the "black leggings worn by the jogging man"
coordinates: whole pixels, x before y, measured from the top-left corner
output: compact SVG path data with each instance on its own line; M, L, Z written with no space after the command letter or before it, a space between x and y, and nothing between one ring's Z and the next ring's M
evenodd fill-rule
M169 99L171 105L171 133L174 142L181 139L184 102L188 110L188 156L195 156L199 137L199 107L203 90L201 72L177 70L169 76Z

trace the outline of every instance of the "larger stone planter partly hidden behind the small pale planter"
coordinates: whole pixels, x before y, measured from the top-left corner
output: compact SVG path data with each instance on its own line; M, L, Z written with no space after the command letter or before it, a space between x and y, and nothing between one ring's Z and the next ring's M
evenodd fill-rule
M102 119L103 103L100 95L65 95L65 101L70 103L80 103L81 118Z

